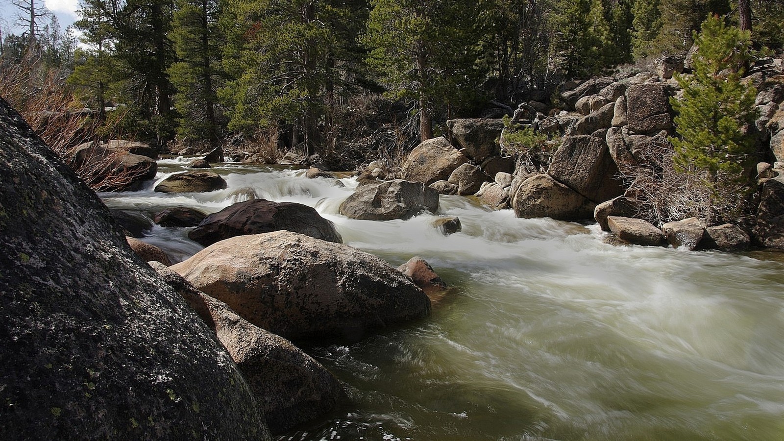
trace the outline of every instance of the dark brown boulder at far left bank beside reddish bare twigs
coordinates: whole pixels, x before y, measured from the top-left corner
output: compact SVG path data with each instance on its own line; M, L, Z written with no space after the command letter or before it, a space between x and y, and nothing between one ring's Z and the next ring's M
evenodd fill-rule
M82 144L68 156L69 165L95 191L136 191L154 179L158 163L118 148Z

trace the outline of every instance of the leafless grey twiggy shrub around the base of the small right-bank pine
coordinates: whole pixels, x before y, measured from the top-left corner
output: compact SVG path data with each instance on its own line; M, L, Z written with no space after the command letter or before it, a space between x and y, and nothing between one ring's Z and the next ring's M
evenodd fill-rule
M679 171L672 144L653 138L637 161L620 163L620 177L628 184L626 196L641 201L639 216L661 226L666 222L698 217L709 224L742 221L747 205L745 188L716 188L707 173Z

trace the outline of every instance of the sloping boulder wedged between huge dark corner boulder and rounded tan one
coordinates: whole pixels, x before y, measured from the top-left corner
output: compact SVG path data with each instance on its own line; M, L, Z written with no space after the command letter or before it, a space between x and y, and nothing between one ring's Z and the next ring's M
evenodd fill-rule
M243 319L164 265L152 266L215 331L256 394L274 435L320 417L346 399L336 377L310 355Z

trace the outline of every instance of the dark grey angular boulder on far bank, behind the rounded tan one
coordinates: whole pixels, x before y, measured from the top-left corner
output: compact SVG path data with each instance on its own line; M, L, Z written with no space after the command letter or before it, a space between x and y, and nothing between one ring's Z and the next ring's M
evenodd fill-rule
M477 164L499 154L497 140L503 130L502 119L450 119L446 125L466 156Z

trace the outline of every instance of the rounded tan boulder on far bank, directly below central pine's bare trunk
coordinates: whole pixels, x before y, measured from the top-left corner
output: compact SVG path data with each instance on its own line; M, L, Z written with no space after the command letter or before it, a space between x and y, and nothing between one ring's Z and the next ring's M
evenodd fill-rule
M468 162L445 137L423 141L408 154L402 166L403 179L433 184L437 180L448 180L449 175Z

